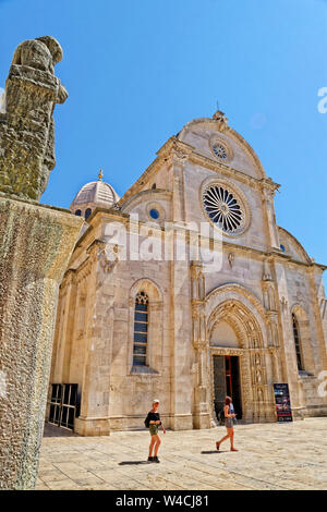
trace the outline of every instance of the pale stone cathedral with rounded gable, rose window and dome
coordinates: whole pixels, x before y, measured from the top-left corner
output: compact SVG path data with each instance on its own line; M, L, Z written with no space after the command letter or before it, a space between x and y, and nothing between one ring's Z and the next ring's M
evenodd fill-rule
M48 420L81 435L143 428L158 398L168 428L209 428L231 394L239 419L274 422L275 382L289 385L294 418L327 415L327 267L276 224L278 187L220 111L169 138L121 198L101 175L82 187ZM214 267L196 249L202 223ZM175 254L179 237L184 258L154 249L165 239ZM141 245L154 257L135 257Z

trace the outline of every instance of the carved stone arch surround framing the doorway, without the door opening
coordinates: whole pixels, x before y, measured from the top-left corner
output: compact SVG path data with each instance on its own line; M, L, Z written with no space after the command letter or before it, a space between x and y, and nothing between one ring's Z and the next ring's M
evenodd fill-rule
M207 339L209 343L208 389L210 410L214 411L214 355L240 357L243 418L246 422L267 422L275 418L271 386L271 355L267 345L265 310L250 291L240 285L219 287L206 297ZM229 324L239 340L239 346L219 346L210 343L214 328L220 321Z

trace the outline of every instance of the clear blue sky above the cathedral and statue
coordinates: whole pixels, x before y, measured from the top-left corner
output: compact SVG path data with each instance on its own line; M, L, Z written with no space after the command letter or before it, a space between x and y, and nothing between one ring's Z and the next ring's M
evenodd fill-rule
M19 42L52 35L69 99L41 202L97 179L119 195L191 119L219 107L280 183L277 222L327 264L327 1L0 0L0 87Z

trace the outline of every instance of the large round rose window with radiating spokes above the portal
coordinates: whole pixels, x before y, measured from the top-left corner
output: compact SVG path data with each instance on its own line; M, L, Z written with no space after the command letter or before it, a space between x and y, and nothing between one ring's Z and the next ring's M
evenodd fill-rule
M211 222L227 233L243 228L244 211L233 192L221 185L210 185L203 194L205 211Z

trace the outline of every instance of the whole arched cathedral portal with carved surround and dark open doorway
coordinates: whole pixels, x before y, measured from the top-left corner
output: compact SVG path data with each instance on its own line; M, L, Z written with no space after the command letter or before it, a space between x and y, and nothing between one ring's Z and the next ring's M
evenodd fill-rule
M232 394L239 417L267 422L275 417L271 356L261 303L221 287L207 296L210 407L213 418L223 394Z

